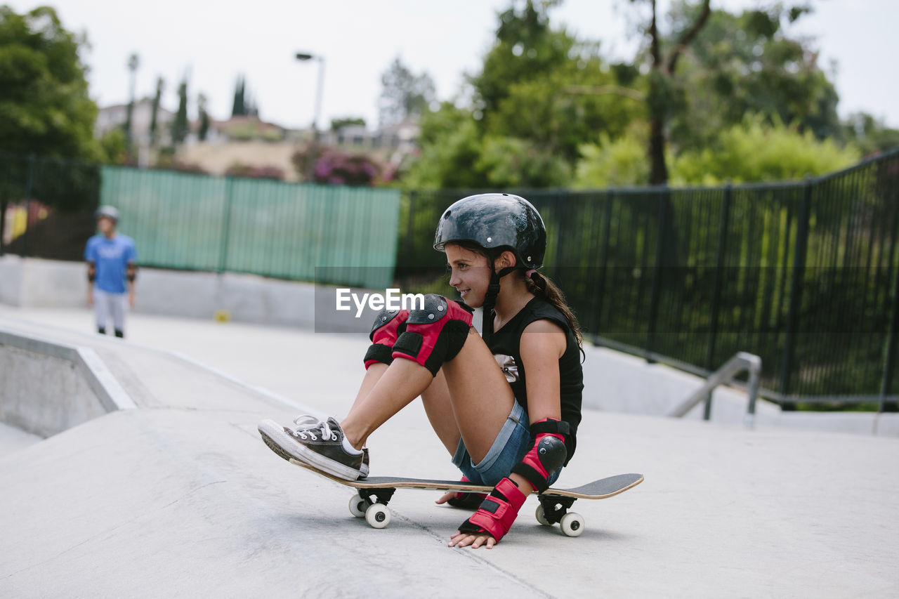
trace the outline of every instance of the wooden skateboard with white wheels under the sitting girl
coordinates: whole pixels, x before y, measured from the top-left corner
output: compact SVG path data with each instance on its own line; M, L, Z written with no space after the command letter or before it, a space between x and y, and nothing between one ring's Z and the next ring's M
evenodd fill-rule
M458 480L434 480L431 478L369 477L361 480L345 480L335 477L315 466L290 460L298 466L330 478L346 487L356 489L350 498L350 513L357 518L365 518L372 528L384 528L390 523L390 509L387 504L397 488L422 488L440 491L461 491L467 493L490 493L493 487L472 485ZM578 537L584 530L583 516L569 512L577 499L606 499L624 493L628 488L643 482L642 474L619 474L601 478L574 488L549 488L537 496L537 522L544 526L559 524L565 536Z

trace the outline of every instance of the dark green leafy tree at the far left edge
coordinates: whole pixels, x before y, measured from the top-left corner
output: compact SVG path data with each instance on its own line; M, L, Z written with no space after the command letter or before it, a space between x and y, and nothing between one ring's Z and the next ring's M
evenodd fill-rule
M18 154L99 159L97 107L79 51L48 6L18 14L0 6L0 148Z

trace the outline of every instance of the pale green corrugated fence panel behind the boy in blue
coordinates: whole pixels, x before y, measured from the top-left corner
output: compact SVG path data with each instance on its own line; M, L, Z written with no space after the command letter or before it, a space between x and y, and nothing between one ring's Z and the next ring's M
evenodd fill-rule
M396 190L280 183L106 166L141 264L386 288L396 265ZM324 269L324 270L323 270Z

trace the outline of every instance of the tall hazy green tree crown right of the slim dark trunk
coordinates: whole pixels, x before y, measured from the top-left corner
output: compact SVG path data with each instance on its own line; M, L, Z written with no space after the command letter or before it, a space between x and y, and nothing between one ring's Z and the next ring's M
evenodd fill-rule
M697 10L686 0L673 4L668 44L680 38ZM788 23L806 12L782 4L739 14L712 11L682 55L668 94L676 148L703 148L749 113L810 130L816 139L842 139L833 84L811 42L788 31Z

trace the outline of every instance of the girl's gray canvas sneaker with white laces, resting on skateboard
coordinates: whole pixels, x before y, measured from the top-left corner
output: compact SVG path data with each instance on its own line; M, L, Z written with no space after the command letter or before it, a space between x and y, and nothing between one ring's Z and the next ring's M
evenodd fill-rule
M298 416L294 428L272 420L259 423L259 434L271 451L284 460L293 458L324 470L335 477L357 480L369 476L369 451L358 453L343 447L343 429L334 418Z

